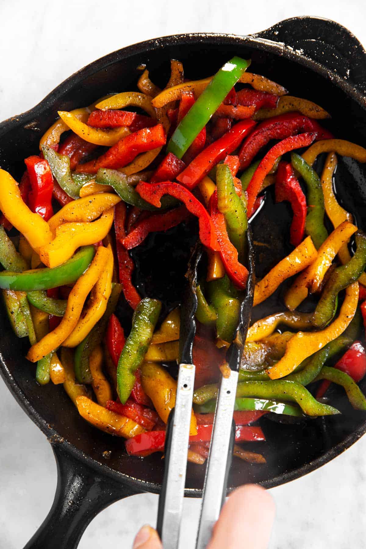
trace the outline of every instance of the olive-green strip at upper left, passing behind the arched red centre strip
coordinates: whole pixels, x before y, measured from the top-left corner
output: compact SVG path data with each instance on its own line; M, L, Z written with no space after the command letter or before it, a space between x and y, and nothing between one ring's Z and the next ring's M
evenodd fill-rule
M179 201L176 198L166 195L160 200L161 208L156 208L156 206L149 204L146 200L141 198L134 187L128 183L127 176L118 170L107 170L105 168L100 168L97 172L95 182L99 185L109 185L115 190L119 197L122 198L123 202L126 202L126 204L131 204L131 206L137 206L140 210L165 210L167 208L173 208L173 206L179 204Z

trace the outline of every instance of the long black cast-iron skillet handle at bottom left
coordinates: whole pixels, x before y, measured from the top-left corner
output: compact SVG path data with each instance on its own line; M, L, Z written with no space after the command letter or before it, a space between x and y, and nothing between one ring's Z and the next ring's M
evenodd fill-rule
M63 445L52 445L57 463L53 505L24 549L76 549L88 524L111 503L141 492L99 475Z

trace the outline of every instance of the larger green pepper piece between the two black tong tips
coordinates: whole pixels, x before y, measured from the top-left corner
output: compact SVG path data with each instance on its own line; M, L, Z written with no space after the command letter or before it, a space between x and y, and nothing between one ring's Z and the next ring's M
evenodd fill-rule
M217 337L231 343L238 326L240 302L231 291L232 284L227 275L207 284L209 299L217 311Z

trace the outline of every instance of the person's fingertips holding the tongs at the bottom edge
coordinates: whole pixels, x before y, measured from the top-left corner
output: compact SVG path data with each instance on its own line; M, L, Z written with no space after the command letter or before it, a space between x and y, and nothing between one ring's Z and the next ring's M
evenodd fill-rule
M213 529L207 549L267 549L274 520L272 496L254 484L230 494ZM162 549L156 530L143 526L133 549Z

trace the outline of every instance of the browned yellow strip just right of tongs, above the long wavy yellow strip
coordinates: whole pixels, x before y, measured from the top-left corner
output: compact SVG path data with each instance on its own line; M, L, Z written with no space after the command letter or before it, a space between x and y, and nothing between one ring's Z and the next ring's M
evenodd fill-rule
M249 341L260 341L268 335L273 334L274 330L284 324L289 328L299 328L301 330L312 327L312 313L299 312L277 312L274 315L266 316L257 320L247 331L246 343Z

